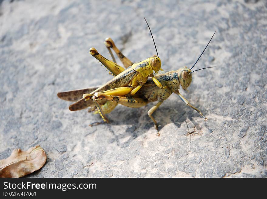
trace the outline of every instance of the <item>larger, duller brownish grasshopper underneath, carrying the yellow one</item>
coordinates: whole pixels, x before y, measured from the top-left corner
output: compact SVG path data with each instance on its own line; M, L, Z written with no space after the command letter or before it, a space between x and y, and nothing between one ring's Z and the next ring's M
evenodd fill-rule
M215 34L215 33L214 33ZM214 36L213 34L213 36ZM211 39L213 38L211 37ZM211 42L211 39L209 40L208 44L204 48L201 55L204 53L206 48L208 47L209 43ZM117 56L122 61L123 65L127 67L132 62L125 57L115 46L112 39L107 38L105 41L106 47L111 53L110 48L112 48ZM97 59L100 60L101 63L103 63L114 75L117 75L121 70L123 70L122 67L117 67L117 65L108 65L109 60L106 60L103 56L101 56L97 51L93 54L93 56L98 56ZM198 57L198 60L200 59L201 55ZM111 53L111 56L114 59L113 54ZM192 106L189 101L184 98L179 92L180 85L181 87L186 90L188 86L191 84L192 81L192 73L194 71L211 68L211 67L205 67L198 70L191 71L191 69L195 66L195 64L198 62L198 60L194 63L194 65L189 69L188 67L181 67L178 70L164 72L159 71L158 74L155 75L155 78L161 83L162 86L164 86L164 89L160 89L157 84L154 83L152 78L149 78L146 83L139 89L137 93L134 95L125 95L125 96L115 96L115 95L109 95L106 93L102 93L99 91L96 91L97 87L87 88L87 89L81 89L76 91L68 91L68 92L62 92L58 93L59 98L62 98L64 100L68 101L76 101L77 99L81 98L83 96L84 92L94 92L94 101L97 101L97 108L99 109L100 115L104 119L105 122L108 122L105 114L111 112L117 104L121 104L124 106L132 107L132 108L139 108L142 106L147 105L149 102L158 101L155 106L149 109L147 114L152 119L152 121L155 124L155 128L158 131L158 124L152 114L154 111L163 103L164 100L166 100L172 93L175 93L181 98L181 100L188 105L189 107L196 110L201 117L207 120L207 118L202 114L202 112L198 109ZM114 61L115 62L115 61ZM81 110L86 107L91 107L89 109L89 112L95 110L95 106L93 103L93 100L84 101L83 99L80 99L73 105L69 106L69 109L71 111ZM159 132L158 134L159 135Z

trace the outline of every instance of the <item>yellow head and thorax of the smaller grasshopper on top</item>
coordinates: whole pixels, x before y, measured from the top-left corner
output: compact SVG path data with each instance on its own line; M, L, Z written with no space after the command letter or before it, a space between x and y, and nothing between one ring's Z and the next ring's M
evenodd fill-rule
M153 74L153 70L158 72L161 68L161 60L158 57L149 57L148 59L134 63L132 69L137 71L142 77L148 77Z

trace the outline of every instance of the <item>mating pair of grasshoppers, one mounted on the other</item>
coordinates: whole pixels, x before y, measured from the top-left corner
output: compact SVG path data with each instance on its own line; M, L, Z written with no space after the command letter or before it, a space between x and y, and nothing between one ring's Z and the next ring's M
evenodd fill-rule
M153 36L152 39L154 42ZM211 39L209 40L208 44L211 42ZM208 47L208 44L206 45L205 49ZM201 111L192 106L189 101L179 92L180 85L185 90L191 84L192 73L197 71L191 70L198 62L205 49L190 69L188 67L181 67L178 70L165 72L160 71L162 70L161 60L158 57L158 54L157 56L154 55L139 63L132 63L120 52L112 39L107 38L105 40L105 45L109 50L113 61L108 60L100 55L95 48L90 49L90 54L103 63L103 65L110 70L115 77L100 87L91 87L58 93L58 97L63 100L76 101L76 103L69 106L69 110L77 111L90 107L89 112L91 112L98 108L103 121L108 122L105 114L111 112L117 106L117 104L132 108L139 108L147 105L149 102L158 101L157 104L150 108L147 112L149 117L153 120L155 128L158 131L157 122L152 114L164 100L166 100L172 93L175 93L186 105L196 110L205 119L205 121L207 120ZM117 54L126 69L116 63L113 53L110 49ZM156 45L155 49L157 52ZM153 71L155 75L153 74ZM159 135L159 132L157 135Z

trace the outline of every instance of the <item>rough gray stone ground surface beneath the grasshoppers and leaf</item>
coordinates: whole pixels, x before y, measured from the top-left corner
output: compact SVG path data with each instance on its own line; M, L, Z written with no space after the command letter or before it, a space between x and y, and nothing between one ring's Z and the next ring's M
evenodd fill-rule
M266 1L0 1L0 159L42 146L28 177L266 177ZM216 30L184 96L154 113L121 105L110 124L70 112L57 92L111 79L90 54L113 38L132 61L155 53L164 70L191 66ZM195 127L196 134L187 135Z

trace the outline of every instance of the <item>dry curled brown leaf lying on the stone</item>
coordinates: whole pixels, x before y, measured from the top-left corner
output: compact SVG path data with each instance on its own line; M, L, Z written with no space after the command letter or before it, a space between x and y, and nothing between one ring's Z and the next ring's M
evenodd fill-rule
M46 163L46 153L40 146L28 151L15 149L7 158L0 160L0 177L23 177L39 170Z

